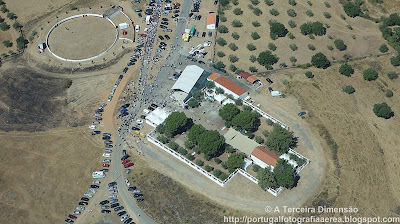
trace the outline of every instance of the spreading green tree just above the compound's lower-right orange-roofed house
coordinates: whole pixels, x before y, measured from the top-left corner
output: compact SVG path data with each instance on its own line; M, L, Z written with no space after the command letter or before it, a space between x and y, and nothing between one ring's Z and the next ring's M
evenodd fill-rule
M279 124L274 124L273 127L265 144L282 155L289 150L289 147L293 147L296 141L293 132L282 128Z

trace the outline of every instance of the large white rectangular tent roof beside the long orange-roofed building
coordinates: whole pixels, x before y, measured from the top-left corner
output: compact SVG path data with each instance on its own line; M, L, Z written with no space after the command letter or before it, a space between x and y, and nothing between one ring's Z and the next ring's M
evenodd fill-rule
M204 69L197 65L186 66L185 70L183 70L181 76L179 76L178 80L171 89L181 90L185 93L189 93L196 84L197 80L199 80L200 76L203 74L203 71Z

